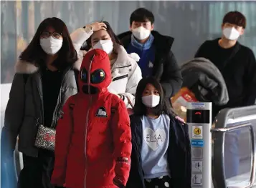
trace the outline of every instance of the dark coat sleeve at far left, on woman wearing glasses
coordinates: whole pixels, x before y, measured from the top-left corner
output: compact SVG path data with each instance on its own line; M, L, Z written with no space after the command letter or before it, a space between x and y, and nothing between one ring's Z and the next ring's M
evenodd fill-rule
M16 137L24 118L25 86L24 74L15 74L5 110L4 127L1 131L1 153L11 154L16 145Z

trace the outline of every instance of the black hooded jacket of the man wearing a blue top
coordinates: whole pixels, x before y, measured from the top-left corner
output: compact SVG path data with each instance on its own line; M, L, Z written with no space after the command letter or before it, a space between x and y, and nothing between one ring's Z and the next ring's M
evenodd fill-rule
M157 31L152 31L151 34L154 37L153 45L156 46L153 76L161 82L165 96L171 98L181 89L182 84L181 71L171 51L174 38L163 36ZM119 34L118 38L121 40L125 49L127 49L131 43L131 31Z

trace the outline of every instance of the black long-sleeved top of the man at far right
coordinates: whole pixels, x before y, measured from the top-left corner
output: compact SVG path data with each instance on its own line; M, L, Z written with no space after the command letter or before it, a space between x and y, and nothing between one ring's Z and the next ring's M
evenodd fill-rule
M195 57L212 61L222 73L229 93L227 105L219 107L242 107L255 104L256 99L256 60L252 50L239 42L226 54L218 44L219 39L205 41Z

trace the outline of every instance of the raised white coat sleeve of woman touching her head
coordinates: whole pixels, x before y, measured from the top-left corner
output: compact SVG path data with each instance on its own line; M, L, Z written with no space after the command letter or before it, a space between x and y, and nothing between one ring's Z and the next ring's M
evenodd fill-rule
M72 34L70 34L70 38L75 47L75 50L77 51L78 56L82 54L82 52L80 51L82 44L87 39L89 39L92 34L93 31L86 32L84 28L78 28L75 31L73 31Z

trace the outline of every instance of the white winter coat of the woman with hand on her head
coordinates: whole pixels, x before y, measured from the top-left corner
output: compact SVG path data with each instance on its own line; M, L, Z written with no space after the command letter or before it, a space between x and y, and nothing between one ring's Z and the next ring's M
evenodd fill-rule
M75 44L75 49L79 51L82 44L90 38L93 32L86 33L85 29L77 29L70 36ZM127 54L123 46L117 46L118 58L111 68L112 82L108 86L108 91L113 94L122 94L126 107L135 103L135 93L138 82L142 79L141 69L138 66L135 54ZM79 52L83 56L82 51ZM138 55L137 55L138 56ZM128 98L128 99L127 99Z

